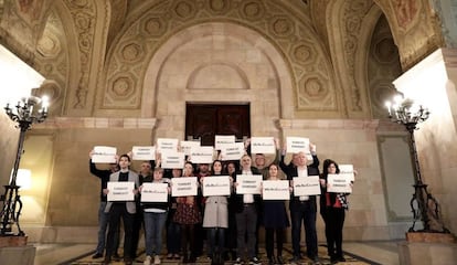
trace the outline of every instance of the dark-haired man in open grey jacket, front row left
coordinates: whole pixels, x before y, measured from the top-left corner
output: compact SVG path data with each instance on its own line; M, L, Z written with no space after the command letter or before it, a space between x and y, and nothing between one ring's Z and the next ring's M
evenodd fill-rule
M109 182L132 182L134 190L121 190L118 192L116 192L116 190L109 189L104 190L104 193L108 195L108 203L106 204L105 212L109 213L109 229L106 242L105 264L109 264L111 262L111 254L115 251L115 234L119 227L120 219L123 219L124 222L124 261L126 264L132 264L130 254L134 231L134 216L137 212L135 197L138 193L136 189L139 187L139 178L136 172L129 169L130 163L130 157L128 155L121 155L119 157L119 171L109 176ZM131 200L129 199L124 201L114 201L110 197L120 195L116 193L126 193L126 197L131 198Z

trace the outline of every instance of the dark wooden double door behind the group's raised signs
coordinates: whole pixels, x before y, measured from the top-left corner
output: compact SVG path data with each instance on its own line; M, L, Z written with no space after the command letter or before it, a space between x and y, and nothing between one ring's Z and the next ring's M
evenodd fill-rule
M215 135L235 135L238 140L251 137L249 105L188 104L187 139L200 139L202 146L214 146Z

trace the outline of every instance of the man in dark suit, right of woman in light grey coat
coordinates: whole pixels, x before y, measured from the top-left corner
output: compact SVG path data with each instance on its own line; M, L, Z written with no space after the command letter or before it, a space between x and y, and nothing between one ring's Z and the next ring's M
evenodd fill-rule
M235 187L240 183L236 182L238 176L261 176L261 171L255 167L252 167L251 156L244 155L241 159L242 169L235 174ZM243 264L242 256L247 251L249 264L259 265L261 261L255 254L255 245L257 242L256 227L257 216L262 205L261 194L236 194L235 197L235 218L236 218L236 246L238 257L235 261L235 265ZM246 236L247 234L247 236ZM246 241L247 237L247 241Z

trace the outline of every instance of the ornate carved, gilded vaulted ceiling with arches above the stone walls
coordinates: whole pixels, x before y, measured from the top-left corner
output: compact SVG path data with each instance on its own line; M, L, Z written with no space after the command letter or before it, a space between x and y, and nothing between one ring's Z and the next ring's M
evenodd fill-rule
M52 95L54 114L68 116L97 109L138 114L145 71L157 50L173 34L206 22L254 30L280 52L291 73L296 117L379 116L400 65L411 67L443 43L427 0L7 0L0 6L1 42L50 80L42 92Z

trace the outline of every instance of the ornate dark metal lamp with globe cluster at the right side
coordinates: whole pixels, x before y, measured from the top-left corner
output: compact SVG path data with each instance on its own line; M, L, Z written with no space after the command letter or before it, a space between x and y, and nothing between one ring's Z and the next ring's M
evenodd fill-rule
M422 105L417 105L411 98L403 98L401 95L394 96L393 102L386 102L391 121L405 126L410 132L410 147L412 159L414 160L414 189L415 193L410 201L411 210L414 214L413 225L410 232L415 232L414 226L418 220L423 223L421 232L445 232L449 231L443 225L439 216L438 201L427 191L427 184L422 180L421 168L418 163L414 130L417 130L417 124L427 120L429 112Z

